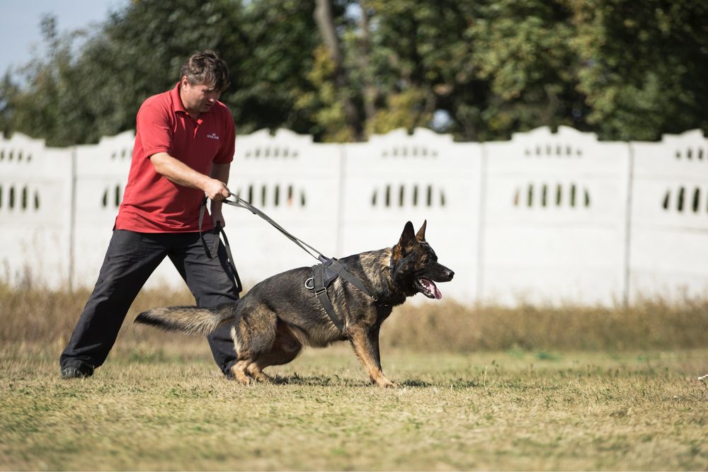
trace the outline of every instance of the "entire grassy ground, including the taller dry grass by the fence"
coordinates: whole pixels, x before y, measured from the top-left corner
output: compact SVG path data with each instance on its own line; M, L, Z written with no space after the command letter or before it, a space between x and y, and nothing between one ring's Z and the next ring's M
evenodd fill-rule
M129 321L166 304L147 297ZM240 386L205 341L129 321L92 378L62 381L84 301L0 290L13 326L0 331L2 470L708 469L708 346L693 332L704 304L406 308L382 330L399 388L381 389L346 344L271 368L276 384ZM484 348L460 344L475 339Z

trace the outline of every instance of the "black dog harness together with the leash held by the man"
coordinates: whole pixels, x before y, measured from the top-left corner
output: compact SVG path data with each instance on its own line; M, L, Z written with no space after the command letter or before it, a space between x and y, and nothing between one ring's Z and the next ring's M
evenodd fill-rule
M320 264L312 266L312 277L307 279L305 281L305 287L307 289L312 290L314 294L316 295L317 299L319 299L320 304L322 305L322 308L324 308L324 311L327 312L327 315L329 316L330 320L338 328L338 330L341 331L342 334L344 334L344 329L346 325L346 321L341 320L339 316L337 316L337 313L334 311L334 306L332 305L332 301L329 299L329 295L327 294L327 287L329 287L329 284L332 283L334 279L337 277L342 277L344 280L349 282L350 284L353 284L354 287L357 287L360 289L364 294L366 294L368 297L371 297L373 301L378 301L377 297L375 295L372 295L369 289L367 289L366 285L362 280L354 275L353 273L349 272L346 268L346 265L341 263L339 260L334 259L334 258L328 258L326 255L322 254L321 252L317 251L315 248L310 246L309 244L305 243L299 238L296 238L292 234L288 233L285 231L285 229L280 226L280 224L276 223L268 217L267 214L261 212L260 209L254 207L251 205L250 202L247 202L246 200L242 199L238 195L234 195L233 193L230 194L230 196L234 197L236 200L222 200L222 203L225 203L227 205L232 205L234 207L241 207L248 209L251 213L258 215L258 217L261 217L262 219L265 219L265 221L268 221L275 229L278 229L282 234L285 235L290 241L293 243L297 244L297 246L300 246L303 251L308 253L309 255L312 255L312 257L316 258L317 260L321 261ZM227 249L227 255L229 256L229 263L232 265L232 269L234 270L234 274L236 276L237 284L239 286L239 292L241 292L241 281L239 280L239 275L238 272L236 272L236 266L234 265L234 258L231 255L231 249L229 248L229 240L226 237L226 234L224 233L224 230L221 229L221 226L217 225L217 240L215 241L215 248L214 251L209 251L209 248L207 246L207 243L204 241L204 237L202 236L202 219L204 218L204 214L207 209L207 200L208 198L205 197L205 199L202 201L202 206L200 208L200 214L199 214L199 234L200 238L202 239L202 246L204 246L204 251L207 254L207 257L210 259L213 259L217 255L217 247L219 244L219 233L224 235L224 246ZM315 255L314 253L317 255ZM214 255L212 255L212 253Z

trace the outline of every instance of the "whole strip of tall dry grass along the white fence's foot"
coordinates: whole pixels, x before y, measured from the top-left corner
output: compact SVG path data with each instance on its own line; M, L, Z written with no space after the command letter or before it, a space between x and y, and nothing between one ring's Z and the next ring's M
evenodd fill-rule
M10 289L0 285L0 341L65 343L89 292ZM193 304L185 290L139 294L121 338L160 342L165 334L132 325L154 306ZM470 352L478 350L646 350L708 347L708 299L667 304L646 300L622 307L462 306L452 301L394 309L382 343L395 347ZM172 339L172 338L171 338ZM119 340L120 342L120 340Z

